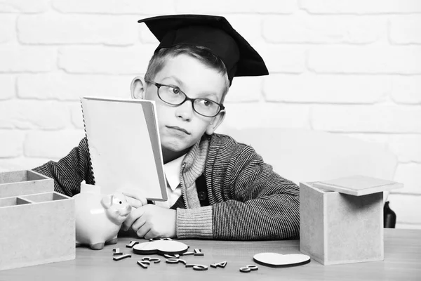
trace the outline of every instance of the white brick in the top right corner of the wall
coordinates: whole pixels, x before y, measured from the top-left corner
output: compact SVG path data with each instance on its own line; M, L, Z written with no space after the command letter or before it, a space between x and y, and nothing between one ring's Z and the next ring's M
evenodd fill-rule
M420 13L417 0L300 0L300 7L309 13L382 14Z

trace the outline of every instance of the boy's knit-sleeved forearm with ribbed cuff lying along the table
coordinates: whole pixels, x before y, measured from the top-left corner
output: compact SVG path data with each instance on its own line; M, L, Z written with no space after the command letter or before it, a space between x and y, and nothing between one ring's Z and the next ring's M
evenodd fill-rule
M180 239L294 239L300 229L300 202L297 196L276 195L269 200L229 200L197 209L178 209L176 225Z

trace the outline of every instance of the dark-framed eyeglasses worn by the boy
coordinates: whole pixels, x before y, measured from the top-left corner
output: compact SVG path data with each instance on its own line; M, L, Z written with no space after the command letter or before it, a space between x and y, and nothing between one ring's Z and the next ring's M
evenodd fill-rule
M186 100L192 100L193 110L199 115L205 117L215 117L225 107L208 98L189 98L183 91L176 86L159 84L154 81L145 80L147 83L156 86L158 97L168 105L182 105Z

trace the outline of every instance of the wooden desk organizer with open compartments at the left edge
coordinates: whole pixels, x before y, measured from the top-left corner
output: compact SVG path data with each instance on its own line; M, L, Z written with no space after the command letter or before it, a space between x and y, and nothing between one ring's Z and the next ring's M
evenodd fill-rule
M75 257L74 200L34 171L0 173L0 270Z

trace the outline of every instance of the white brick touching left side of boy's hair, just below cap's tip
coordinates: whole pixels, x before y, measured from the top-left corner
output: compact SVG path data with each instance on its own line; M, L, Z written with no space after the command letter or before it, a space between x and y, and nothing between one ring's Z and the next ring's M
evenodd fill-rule
M118 48L104 46L63 47L58 65L71 73L139 74L145 72L156 45Z

